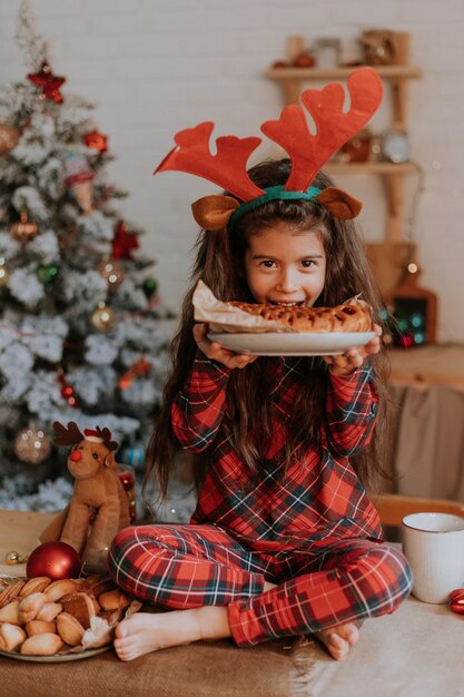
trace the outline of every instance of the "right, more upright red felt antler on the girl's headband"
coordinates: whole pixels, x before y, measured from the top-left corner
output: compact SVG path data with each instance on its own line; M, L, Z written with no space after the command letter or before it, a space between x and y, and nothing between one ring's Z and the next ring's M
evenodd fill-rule
M263 132L280 145L292 158L292 174L285 185L290 192L305 192L320 167L347 143L376 111L383 86L372 68L355 70L347 80L349 111L343 111L342 85L332 82L324 89L308 89L302 101L313 116L317 132L312 135L302 107L285 107L279 120L265 121Z

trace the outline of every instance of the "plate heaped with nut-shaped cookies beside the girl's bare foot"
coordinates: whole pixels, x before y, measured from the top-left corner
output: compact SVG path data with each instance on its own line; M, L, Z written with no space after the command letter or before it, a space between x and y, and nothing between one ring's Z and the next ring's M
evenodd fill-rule
M0 582L0 655L58 662L91 658L112 646L121 619L141 608L100 576Z

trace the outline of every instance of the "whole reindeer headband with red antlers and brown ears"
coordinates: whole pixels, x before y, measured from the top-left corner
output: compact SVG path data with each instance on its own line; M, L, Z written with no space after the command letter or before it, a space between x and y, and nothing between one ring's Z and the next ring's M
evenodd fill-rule
M351 96L347 112L343 111L345 92L338 82L302 94L302 101L315 121L316 135L309 132L305 112L298 105L285 107L279 120L261 125L261 131L285 148L292 159L292 171L284 186L261 189L247 175L248 158L261 143L260 138L223 136L216 140L216 155L211 155L211 121L179 131L175 136L176 147L154 174L169 169L195 174L236 196L205 196L192 204L196 222L209 230L234 226L248 210L285 198L317 200L337 218L354 218L362 208L359 200L335 187L320 190L312 186L320 167L365 126L381 104L382 80L372 68L355 70L347 86Z

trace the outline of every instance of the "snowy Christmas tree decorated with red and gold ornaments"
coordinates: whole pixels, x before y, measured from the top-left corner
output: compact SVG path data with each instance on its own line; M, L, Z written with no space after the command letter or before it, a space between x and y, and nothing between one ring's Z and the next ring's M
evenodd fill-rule
M0 508L56 510L71 491L56 420L106 426L118 460L142 463L166 313L140 230L112 206L125 193L95 106L68 95L26 3L18 41L29 72L0 90Z

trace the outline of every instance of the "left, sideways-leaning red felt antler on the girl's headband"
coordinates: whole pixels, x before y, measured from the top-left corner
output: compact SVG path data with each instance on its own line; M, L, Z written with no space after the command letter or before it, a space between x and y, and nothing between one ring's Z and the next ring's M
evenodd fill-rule
M209 138L214 129L211 121L204 121L195 128L186 128L175 137L175 147L157 167L154 174L175 169L195 174L221 186L240 200L251 200L263 190L249 179L246 169L249 156L260 138L237 138L223 136L216 140L217 154L209 150Z

